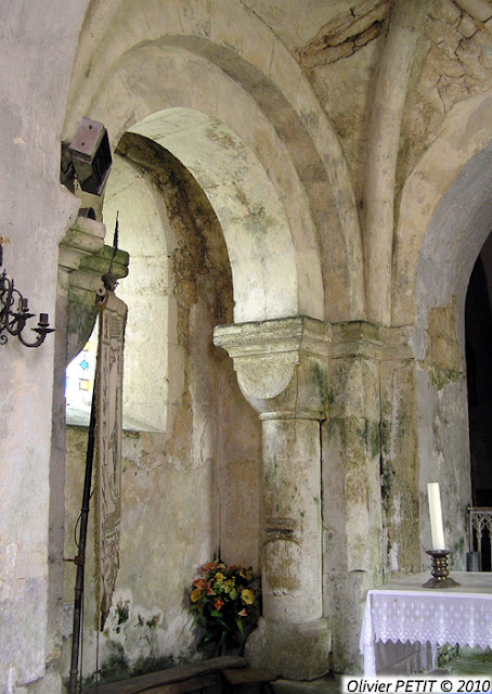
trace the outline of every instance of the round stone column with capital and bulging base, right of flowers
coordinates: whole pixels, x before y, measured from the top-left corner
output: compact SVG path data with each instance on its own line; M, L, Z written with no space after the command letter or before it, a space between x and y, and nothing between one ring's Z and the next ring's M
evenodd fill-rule
M328 670L323 618L320 423L329 336L306 317L222 325L215 344L234 360L263 434L263 616L246 652L256 667L309 680Z

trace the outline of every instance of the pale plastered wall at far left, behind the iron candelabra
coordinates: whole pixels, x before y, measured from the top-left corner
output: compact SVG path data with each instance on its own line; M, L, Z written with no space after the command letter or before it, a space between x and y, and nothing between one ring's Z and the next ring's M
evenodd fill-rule
M4 267L33 313L48 312L52 325L57 244L76 213L57 183L59 138L83 4L7 0L0 8ZM50 488L53 336L38 349L14 337L0 349L0 691L11 692L38 680L41 687L59 653L59 604L49 581L59 558L53 536L62 530L61 499ZM51 474L63 475L63 461ZM42 691L60 689L55 672L46 681Z

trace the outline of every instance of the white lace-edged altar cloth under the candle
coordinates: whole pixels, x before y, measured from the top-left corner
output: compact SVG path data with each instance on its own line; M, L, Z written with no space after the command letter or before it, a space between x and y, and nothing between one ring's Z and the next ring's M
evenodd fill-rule
M492 647L492 574L453 571L459 586L426 589L430 573L370 590L360 650L364 674L375 676L376 642Z

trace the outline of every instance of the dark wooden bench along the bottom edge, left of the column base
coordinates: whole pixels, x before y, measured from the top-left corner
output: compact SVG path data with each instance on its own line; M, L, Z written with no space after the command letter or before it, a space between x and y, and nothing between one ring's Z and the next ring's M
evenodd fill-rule
M245 668L246 658L222 656L169 668L159 672L151 672L129 680L100 684L92 687L89 694L222 694L222 671L233 672L236 668Z

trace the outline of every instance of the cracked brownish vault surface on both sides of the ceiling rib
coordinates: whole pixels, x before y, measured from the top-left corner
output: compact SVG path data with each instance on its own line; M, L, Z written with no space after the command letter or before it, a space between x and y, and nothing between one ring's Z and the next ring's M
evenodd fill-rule
M363 204L378 64L393 4L387 0L351 2L306 43L299 46L290 38L290 50L339 137L359 205ZM397 194L452 107L492 87L490 25L482 15L467 12L466 3L461 4L432 0L426 9L402 121ZM312 22L311 31L314 17Z

